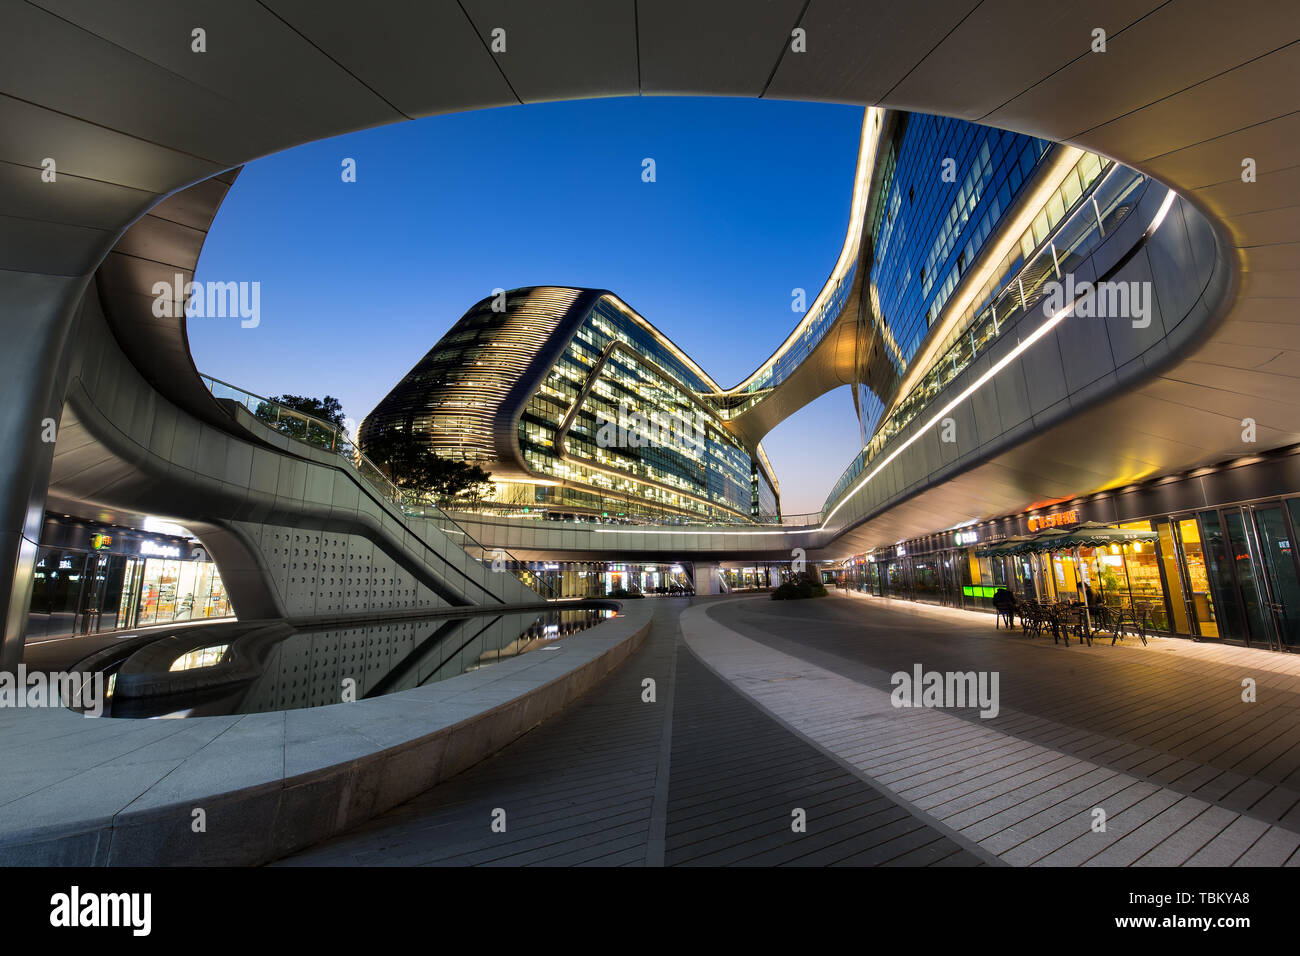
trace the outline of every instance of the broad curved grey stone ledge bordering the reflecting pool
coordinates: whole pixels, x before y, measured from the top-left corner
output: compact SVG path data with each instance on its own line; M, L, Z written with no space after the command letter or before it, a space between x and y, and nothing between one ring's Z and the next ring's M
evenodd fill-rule
M177 721L3 708L0 866L251 865L318 843L580 697L650 633L647 604L550 650L352 704Z

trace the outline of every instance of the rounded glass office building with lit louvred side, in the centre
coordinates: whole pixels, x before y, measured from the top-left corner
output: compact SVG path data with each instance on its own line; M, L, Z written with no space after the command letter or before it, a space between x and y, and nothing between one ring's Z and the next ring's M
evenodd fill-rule
M720 392L611 293L519 289L469 310L359 437L369 454L396 429L480 464L520 514L770 519L771 466L728 431Z

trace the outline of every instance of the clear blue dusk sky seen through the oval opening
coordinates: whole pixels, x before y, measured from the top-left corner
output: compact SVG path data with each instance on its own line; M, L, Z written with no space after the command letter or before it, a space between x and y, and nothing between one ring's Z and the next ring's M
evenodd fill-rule
M790 290L811 302L835 264L861 122L857 107L623 98L430 117L268 156L230 190L198 269L259 281L261 321L191 319L195 364L257 394L333 394L360 420L493 289L575 285L618 293L734 385L797 323ZM764 447L783 510L818 510L859 447L849 390Z

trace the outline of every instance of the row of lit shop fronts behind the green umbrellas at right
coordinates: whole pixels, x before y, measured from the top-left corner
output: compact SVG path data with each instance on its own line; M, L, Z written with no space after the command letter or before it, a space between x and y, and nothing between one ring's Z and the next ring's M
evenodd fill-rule
M870 593L975 609L1002 587L1041 602L1091 589L1154 631L1295 650L1296 488L1287 450L898 542L845 571Z

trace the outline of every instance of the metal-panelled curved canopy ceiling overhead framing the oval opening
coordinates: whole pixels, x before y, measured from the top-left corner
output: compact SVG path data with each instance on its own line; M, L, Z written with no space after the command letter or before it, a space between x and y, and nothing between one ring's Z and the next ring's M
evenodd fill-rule
M31 0L4 10L0 300L27 302L23 284L38 282L70 306L161 196L368 126L637 94L885 105L1072 143L1196 203L1242 281L1216 334L1154 376L1144 399L1212 408L1225 428L1245 402L1261 447L1300 441L1294 0ZM806 52L792 49L796 27ZM204 52L192 48L198 29ZM47 160L57 183L42 181ZM130 254L139 281L192 268L202 229L172 225Z

